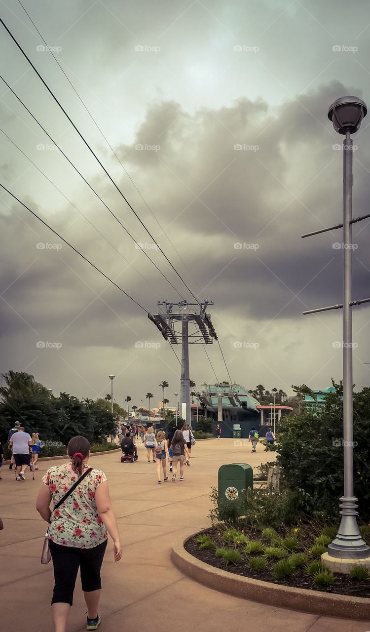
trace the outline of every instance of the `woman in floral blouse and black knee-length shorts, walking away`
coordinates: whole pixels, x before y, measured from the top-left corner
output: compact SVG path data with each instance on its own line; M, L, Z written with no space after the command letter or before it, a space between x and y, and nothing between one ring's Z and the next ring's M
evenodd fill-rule
M107 532L114 542L114 561L122 557L107 478L101 470L87 465L90 443L85 437L73 437L67 451L71 461L47 470L36 502L40 516L50 525L48 536L55 580L51 607L55 632L66 631L79 568L88 611L86 629L97 629L102 588L100 568L107 547ZM51 501L54 507L59 505L53 511Z

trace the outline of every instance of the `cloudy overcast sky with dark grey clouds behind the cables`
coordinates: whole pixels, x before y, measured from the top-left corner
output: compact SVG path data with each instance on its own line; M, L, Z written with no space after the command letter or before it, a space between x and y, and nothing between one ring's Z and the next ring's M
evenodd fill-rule
M351 21L344 0L335 11L319 0L22 3L127 173L18 0L1 1L6 26L189 288L213 300L232 380L288 393L339 380L342 312L302 312L342 302L342 231L301 234L342 219L342 137L327 111L343 95L369 99L369 3L357 1ZM190 300L0 29L1 76L145 252L3 82L0 181L149 312ZM354 217L369 212L369 124L354 135ZM147 391L156 404L167 380L173 404L179 363L145 312L3 190L0 200L0 371L90 398L110 391L113 373L115 399L138 406ZM370 296L369 232L354 226L354 299ZM370 308L354 308L357 387L369 386L369 323ZM207 352L228 379L218 345ZM197 387L215 382L201 346L190 374Z

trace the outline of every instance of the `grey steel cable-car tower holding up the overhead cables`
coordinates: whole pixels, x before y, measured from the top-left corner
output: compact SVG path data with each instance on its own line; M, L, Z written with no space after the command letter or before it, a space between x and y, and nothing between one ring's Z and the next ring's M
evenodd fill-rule
M217 333L210 314L206 313L206 308L212 305L212 301L208 300L203 303L188 303L188 301L169 303L163 300L158 301L157 315L148 314L148 318L158 327L165 340L169 340L171 344L179 344L179 337L181 336L181 415L189 424L191 422L189 344L212 344L213 339L217 340ZM176 325L179 322L181 322L181 332L176 331ZM195 325L196 331L192 334L189 334L189 322L193 322Z

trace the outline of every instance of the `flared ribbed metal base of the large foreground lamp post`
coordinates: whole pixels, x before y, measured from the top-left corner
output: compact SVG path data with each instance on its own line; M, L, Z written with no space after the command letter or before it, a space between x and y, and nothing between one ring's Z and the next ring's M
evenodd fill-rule
M336 537L328 546L328 555L331 558L345 560L370 557L370 547L362 540L357 525L357 498L343 496L340 501L342 520Z

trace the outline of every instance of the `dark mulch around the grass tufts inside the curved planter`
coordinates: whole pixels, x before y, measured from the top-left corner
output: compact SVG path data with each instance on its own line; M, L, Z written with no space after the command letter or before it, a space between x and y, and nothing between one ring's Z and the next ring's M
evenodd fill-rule
M212 527L208 530L203 531L202 533L207 533L210 537L214 538L216 542L220 540L218 537L218 529ZM287 533L280 532L281 535L285 536ZM249 538L254 540L262 540L261 532L258 530L251 530L246 533ZM254 535L254 537L253 537ZM269 560L267 562L268 566L265 569L261 569L260 571L251 571L248 567L248 561L244 559L240 564L228 564L220 557L215 556L214 550L200 550L199 544L196 542L196 537L194 536L185 544L185 550L188 551L192 556L200 559L205 564L210 564L214 568L222 569L223 571L227 571L228 573L241 575L244 577L249 577L253 580L260 581L268 581L273 584L290 586L292 588L305 588L306 590L316 590L316 592L325 592L336 595L347 595L350 597L363 597L364 599L370 598L370 580L356 580L352 579L349 575L335 573L336 582L331 586L326 586L325 588L316 588L313 584L313 579L305 574L304 569L296 569L294 574L285 577L283 580L276 580L272 573L272 567L274 564L273 560ZM306 538L307 535L306 535ZM306 539L303 538L303 539ZM300 542L302 538L299 538ZM265 544L270 544L265 542ZM232 547L232 544L228 544L225 542L220 542L220 546L222 547ZM253 554L251 553L248 557L261 556L261 553Z

